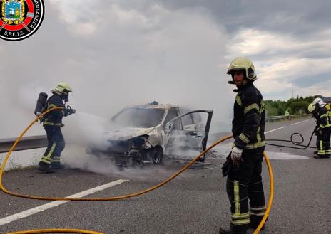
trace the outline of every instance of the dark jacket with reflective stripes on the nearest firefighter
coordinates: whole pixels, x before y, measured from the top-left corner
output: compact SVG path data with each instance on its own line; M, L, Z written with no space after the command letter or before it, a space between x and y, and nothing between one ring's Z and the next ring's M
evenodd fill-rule
M232 132L235 147L256 149L265 147L265 104L260 91L248 83L235 90Z

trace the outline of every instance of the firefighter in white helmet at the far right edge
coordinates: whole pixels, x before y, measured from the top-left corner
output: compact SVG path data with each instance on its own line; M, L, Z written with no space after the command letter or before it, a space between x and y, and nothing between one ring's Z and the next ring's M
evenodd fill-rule
M325 102L320 97L312 101L315 105L316 127L317 134L317 156L315 159L330 158L330 133L331 133L331 118L330 111L327 110Z

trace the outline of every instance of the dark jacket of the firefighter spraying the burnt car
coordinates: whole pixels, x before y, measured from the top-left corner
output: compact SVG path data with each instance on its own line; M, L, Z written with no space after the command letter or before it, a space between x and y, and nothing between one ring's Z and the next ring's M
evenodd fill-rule
M58 95L54 93L46 102L47 110L53 108L53 107L65 107L61 95ZM49 112L49 114L46 115L44 120L44 126L45 125L51 125L51 126L58 126L62 127L62 118L63 116L66 116L66 110L54 110L52 112Z

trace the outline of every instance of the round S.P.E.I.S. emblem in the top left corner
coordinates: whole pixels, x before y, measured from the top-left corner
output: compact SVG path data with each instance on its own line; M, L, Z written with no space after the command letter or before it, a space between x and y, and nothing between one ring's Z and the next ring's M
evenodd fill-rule
M0 38L19 41L34 34L44 19L43 0L0 0Z

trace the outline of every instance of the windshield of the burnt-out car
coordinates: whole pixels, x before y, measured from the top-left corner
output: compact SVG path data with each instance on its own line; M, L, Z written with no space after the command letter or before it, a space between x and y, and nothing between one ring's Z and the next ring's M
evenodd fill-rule
M165 110L155 108L129 108L113 119L121 127L156 127L161 123Z

